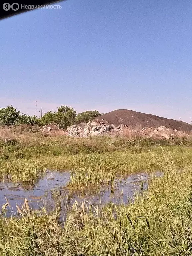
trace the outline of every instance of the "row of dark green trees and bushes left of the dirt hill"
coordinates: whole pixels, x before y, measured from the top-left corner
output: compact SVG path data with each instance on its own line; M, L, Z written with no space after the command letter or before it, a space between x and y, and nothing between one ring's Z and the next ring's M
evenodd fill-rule
M0 126L13 126L13 125L46 125L50 123L60 124L62 128L67 128L71 124L79 124L81 122L89 122L98 117L100 113L97 110L85 111L76 114L72 107L61 106L57 111L48 111L42 118L30 116L17 111L13 106L0 108Z

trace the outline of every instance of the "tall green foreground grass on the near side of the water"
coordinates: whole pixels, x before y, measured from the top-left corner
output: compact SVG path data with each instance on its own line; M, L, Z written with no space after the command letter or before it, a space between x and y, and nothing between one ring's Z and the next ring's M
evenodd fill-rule
M192 168L164 150L156 160L164 176L153 176L134 203L75 203L64 225L56 209L39 216L26 201L19 220L2 213L1 255L192 255Z

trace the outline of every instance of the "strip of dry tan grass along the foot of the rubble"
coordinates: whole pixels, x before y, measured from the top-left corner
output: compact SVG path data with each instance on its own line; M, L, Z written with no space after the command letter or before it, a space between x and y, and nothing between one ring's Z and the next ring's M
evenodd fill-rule
M35 127L33 128L35 132L29 132L30 127L29 126L14 126L14 127L5 127L1 128L0 127L0 140L3 141L5 144L8 143L9 141L17 141L19 143L32 143L33 145L37 145L43 142L48 142L48 141L54 141L54 140L68 140L69 143L80 143L84 144L85 141L86 143L89 142L89 144L95 143L95 140L99 140L97 136L92 136L92 142L90 142L90 139L82 139L82 138L72 138L70 136L65 136L63 131L57 131L57 132L50 132L50 133L40 133L39 128ZM103 136L106 140L109 139L142 139L142 138L150 138L152 140L161 140L164 139L162 137L163 133L166 133L165 131L159 131L158 134L153 133L153 129L146 129L141 132L141 126L138 124L135 127L135 130L132 129L125 129L121 133L114 133L111 136ZM179 132L179 133L174 133L173 135L174 139L186 139L186 140L191 140L192 139L192 132ZM63 139L62 139L63 138ZM83 141L83 143L82 143Z

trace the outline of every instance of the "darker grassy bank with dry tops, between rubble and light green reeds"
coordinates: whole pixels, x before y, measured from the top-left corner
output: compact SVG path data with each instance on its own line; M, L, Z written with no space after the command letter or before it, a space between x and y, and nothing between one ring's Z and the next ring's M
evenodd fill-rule
M5 132L5 131L4 131ZM9 131L10 133L10 131ZM9 136L8 136L9 135ZM127 137L94 137L78 139L66 136L43 136L40 133L10 133L0 137L0 159L32 158L39 156L76 155L135 150L147 151L153 146L192 146L192 140L175 140Z

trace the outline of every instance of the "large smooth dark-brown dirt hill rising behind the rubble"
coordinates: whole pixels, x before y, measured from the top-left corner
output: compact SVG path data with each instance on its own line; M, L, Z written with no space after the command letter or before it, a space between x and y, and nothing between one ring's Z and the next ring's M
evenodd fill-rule
M159 126L166 126L168 128L192 131L192 126L188 123L182 121L176 121L173 119L168 119L160 116L155 116L151 114L145 114L136 112L128 109L117 109L109 113L103 114L96 119L104 119L108 122L118 126L120 124L128 125L131 128L136 128L136 126L143 127L153 127L157 128Z

